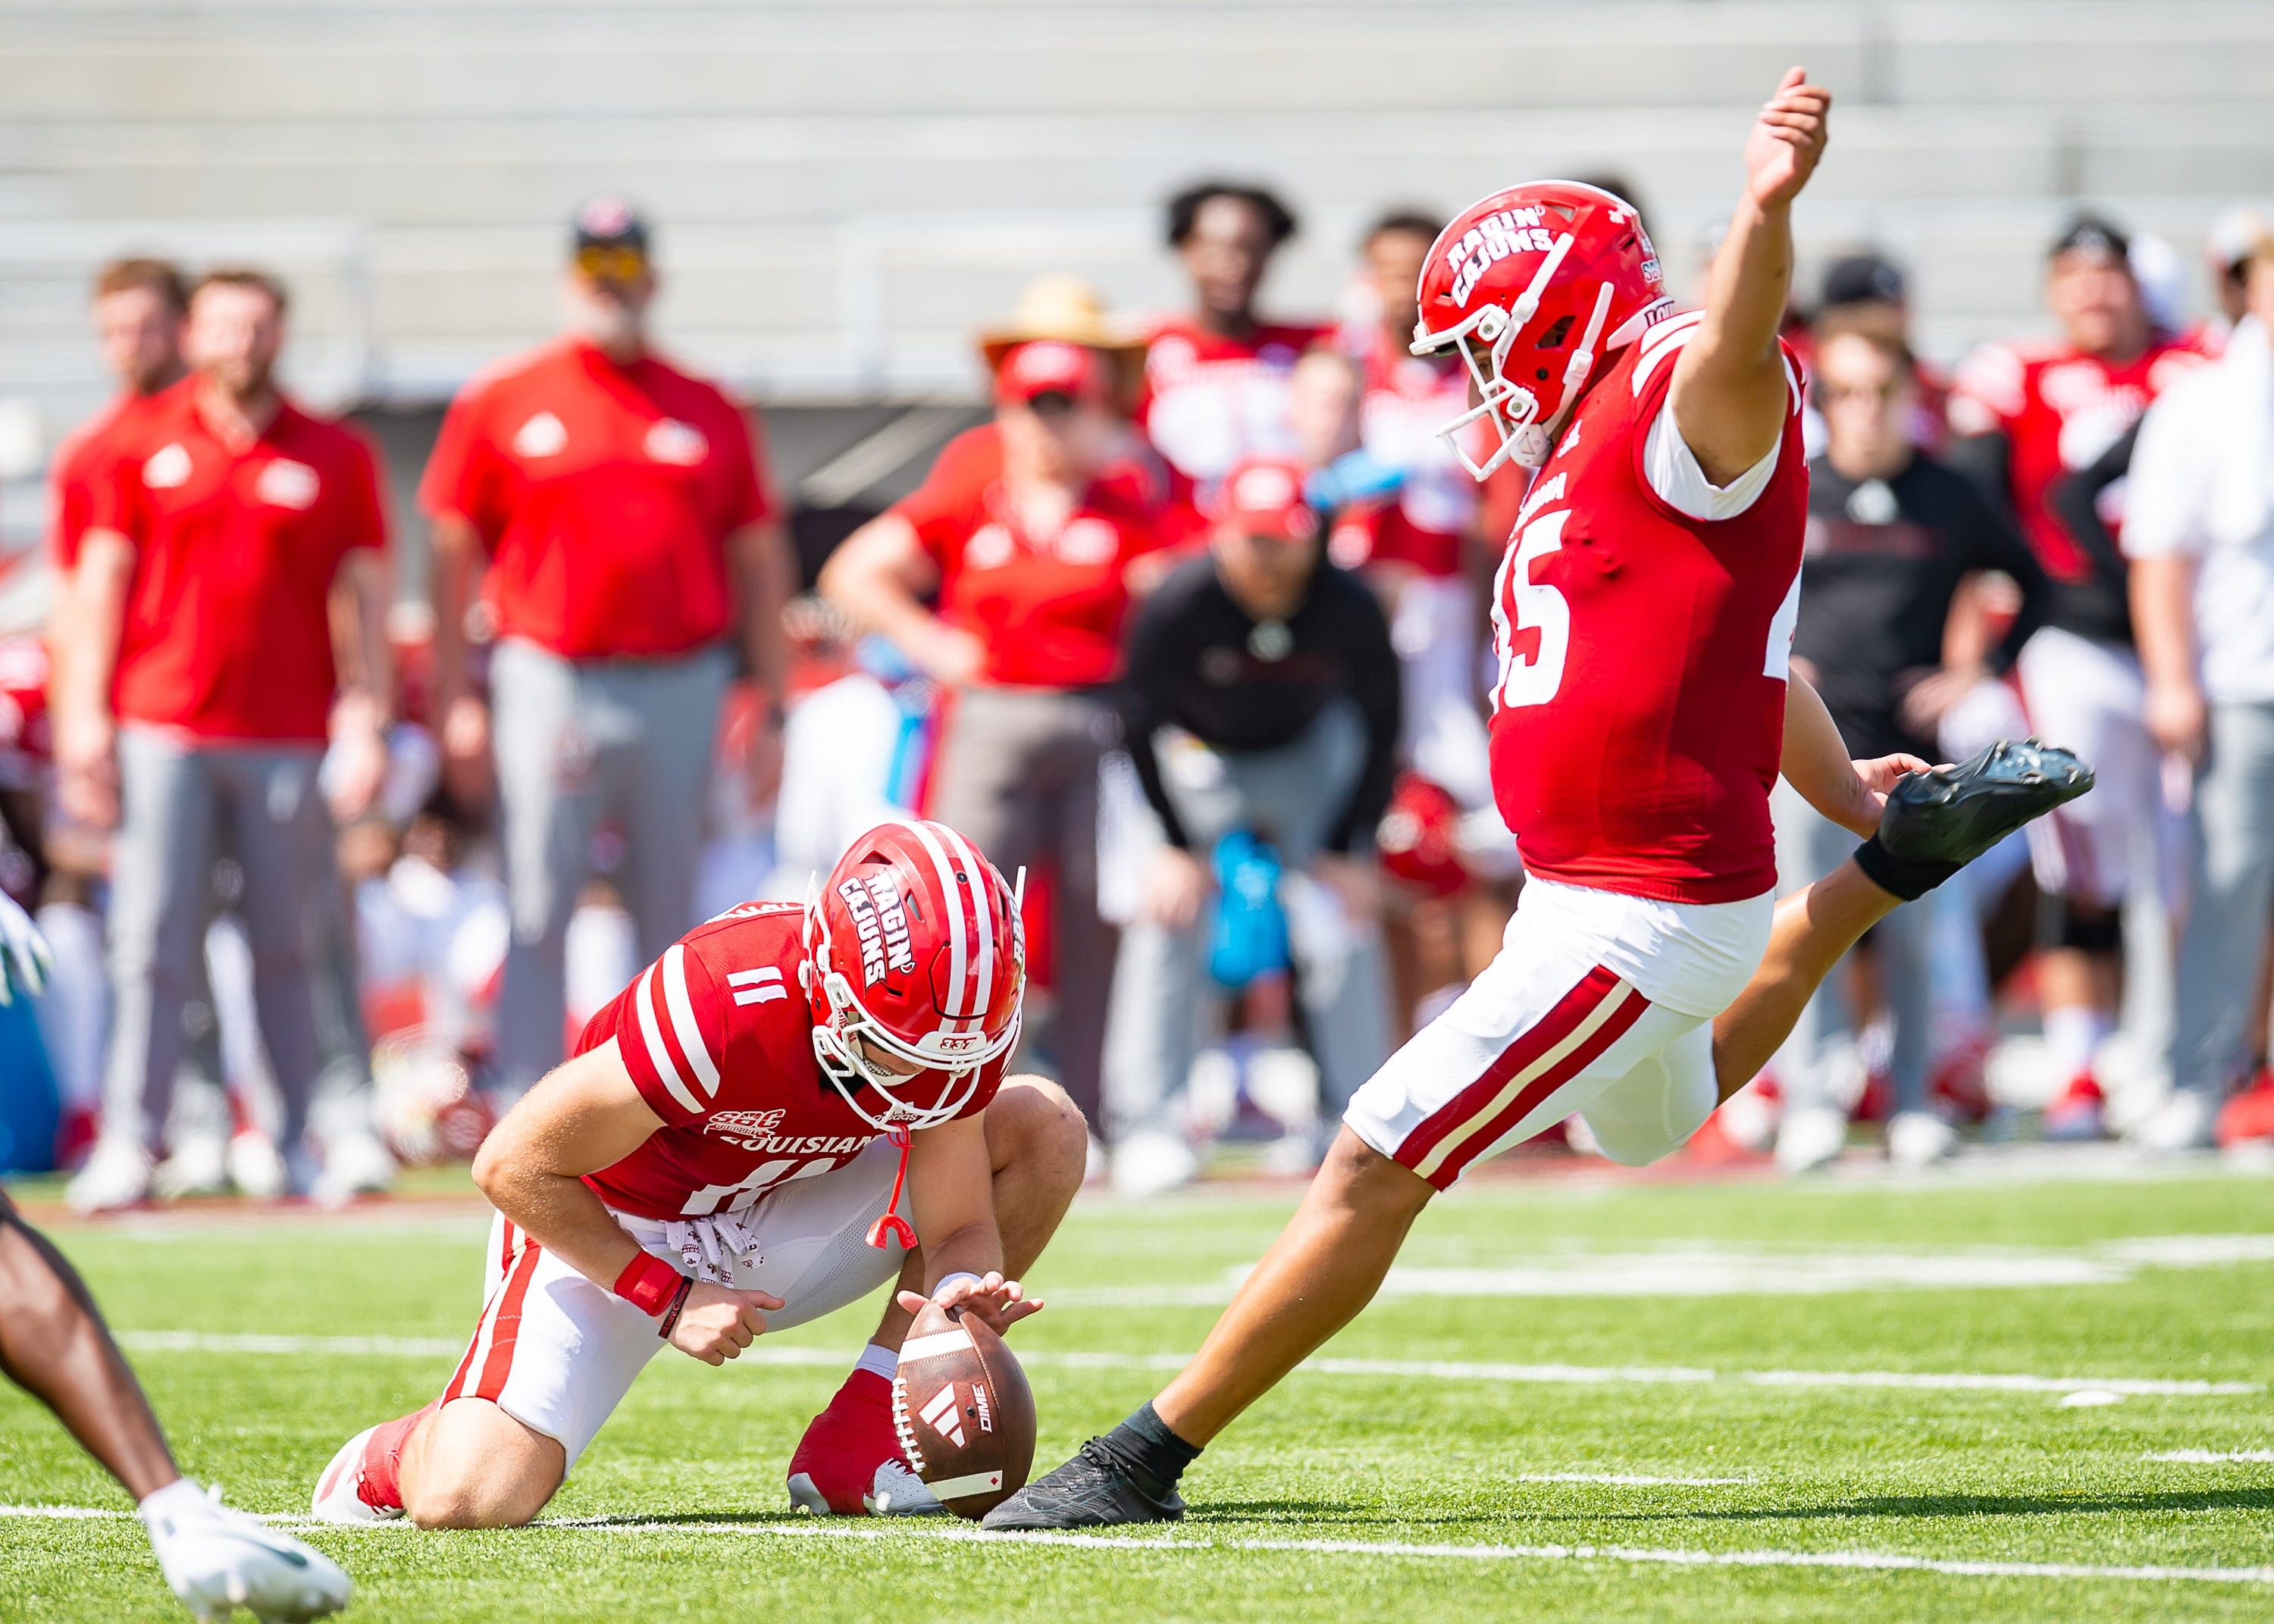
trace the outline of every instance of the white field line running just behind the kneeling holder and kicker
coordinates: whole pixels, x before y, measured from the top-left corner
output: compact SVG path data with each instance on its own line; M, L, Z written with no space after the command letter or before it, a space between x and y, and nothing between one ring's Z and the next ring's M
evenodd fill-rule
M455 1358L464 1342L448 1337L296 1337L296 1335L218 1335L205 1331L121 1331L118 1340L146 1353L280 1353L280 1356L407 1356ZM837 1367L846 1358L814 1347L753 1347L741 1356L755 1365ZM1019 1362L1032 1369L1164 1369L1178 1372L1189 1353L1078 1353L1035 1349ZM1744 1387L1890 1387L1908 1392L2117 1392L2131 1399L2240 1399L2267 1387L2258 1381L2197 1381L2156 1376L2024 1376L2006 1372L1908 1372L1908 1369L1706 1369L1699 1365L1499 1365L1483 1360L1424 1358L1314 1358L1296 1374L1419 1378L1455 1383L1517 1385L1655 1385L1701 1387L1735 1383Z

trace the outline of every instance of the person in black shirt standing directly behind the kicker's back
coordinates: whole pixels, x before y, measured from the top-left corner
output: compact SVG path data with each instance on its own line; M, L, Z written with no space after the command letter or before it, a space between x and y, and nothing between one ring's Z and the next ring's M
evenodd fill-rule
M1792 664L1815 682L1856 755L1940 760L1942 716L1981 682L2001 678L2044 623L2044 571L1965 475L1917 448L1917 382L1901 339L1840 325L1819 334L1815 400L1826 450L1808 469ZM2022 610L1981 660L1947 666L1951 605L1985 571L2015 580ZM1826 873L1846 853L1840 830L1792 796L1778 798L1778 835L1787 885ZM1903 1162L1935 1160L1956 1142L1926 1089L1931 926L1933 914L1919 908L1885 919L1869 937L1894 1028L1887 1149ZM1790 1108L1778 1160L1787 1167L1831 1160L1846 1137L1846 1112L1831 1101L1826 1076L1846 1024L1826 983L1785 1046L1778 1074Z

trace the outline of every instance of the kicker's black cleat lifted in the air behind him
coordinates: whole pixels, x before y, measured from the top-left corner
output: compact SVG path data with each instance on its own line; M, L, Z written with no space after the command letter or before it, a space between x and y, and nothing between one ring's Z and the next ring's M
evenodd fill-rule
M1999 739L1958 767L1910 773L1887 794L1878 832L1856 853L1897 896L1919 896L2035 817L2092 789L2092 769L2038 739Z

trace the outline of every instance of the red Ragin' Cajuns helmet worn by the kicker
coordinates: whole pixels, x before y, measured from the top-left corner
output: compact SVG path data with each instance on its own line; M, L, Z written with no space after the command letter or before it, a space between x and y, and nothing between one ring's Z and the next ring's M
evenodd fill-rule
M1417 293L1414 355L1458 343L1476 382L1442 432L1478 480L1546 462L1587 375L1674 309L1635 205L1576 180L1471 202L1430 243ZM1485 462L1462 444L1476 421L1499 439Z

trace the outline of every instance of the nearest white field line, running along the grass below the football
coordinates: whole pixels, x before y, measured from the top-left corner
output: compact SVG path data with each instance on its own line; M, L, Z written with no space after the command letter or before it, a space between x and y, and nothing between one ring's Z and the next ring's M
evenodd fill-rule
M0 1517L116 1517L84 1506L0 1506ZM405 1522L318 1524L314 1517L264 1517L275 1528L416 1535ZM985 1533L957 1524L910 1528L860 1522L648 1522L637 1517L548 1517L530 1524L575 1533L662 1533L805 1540L939 1540L948 1544L1028 1544L1067 1551L1207 1556L1221 1551L1292 1551L1305 1556L1392 1556L1455 1563L1628 1563L1637 1567L1835 1567L1876 1574L1951 1574L1958 1579L2101 1579L2140 1583L2274 1585L2274 1567L2160 1567L2135 1563L1987 1563L1901 1551L1667 1551L1633 1544L1410 1544L1405 1540L1242 1540L1123 1538L1107 1533Z

